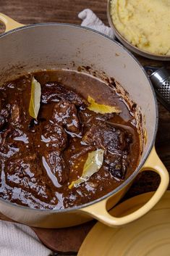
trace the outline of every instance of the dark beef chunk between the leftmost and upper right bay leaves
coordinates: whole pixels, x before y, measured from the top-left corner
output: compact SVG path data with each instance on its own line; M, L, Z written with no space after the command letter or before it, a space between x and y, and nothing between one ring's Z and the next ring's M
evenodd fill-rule
M80 95L76 94L75 91L69 90L69 88L62 86L59 83L46 83L42 87L41 96L41 100L44 104L49 102L59 102L59 100L64 99L79 107L88 105L88 102Z

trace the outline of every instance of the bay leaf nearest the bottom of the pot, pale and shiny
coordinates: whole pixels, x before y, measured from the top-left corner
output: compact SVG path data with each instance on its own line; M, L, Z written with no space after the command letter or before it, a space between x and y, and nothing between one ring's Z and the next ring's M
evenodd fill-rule
M77 179L77 181L72 181L69 185L69 189L72 187L77 187L81 183L88 181L88 179L94 174L97 173L103 164L103 149L97 149L93 152L88 153L88 159L85 162L84 168L82 170L82 176Z

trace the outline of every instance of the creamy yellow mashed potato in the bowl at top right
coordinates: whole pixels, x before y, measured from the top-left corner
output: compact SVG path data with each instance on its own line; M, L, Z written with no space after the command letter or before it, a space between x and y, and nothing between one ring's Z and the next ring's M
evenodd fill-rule
M111 18L134 46L170 55L170 0L111 0Z

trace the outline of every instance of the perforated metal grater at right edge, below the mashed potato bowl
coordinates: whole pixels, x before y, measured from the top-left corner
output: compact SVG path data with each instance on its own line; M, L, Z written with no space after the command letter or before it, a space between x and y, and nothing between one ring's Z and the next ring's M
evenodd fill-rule
M170 72L164 67L148 67L145 70L153 83L158 100L170 111Z

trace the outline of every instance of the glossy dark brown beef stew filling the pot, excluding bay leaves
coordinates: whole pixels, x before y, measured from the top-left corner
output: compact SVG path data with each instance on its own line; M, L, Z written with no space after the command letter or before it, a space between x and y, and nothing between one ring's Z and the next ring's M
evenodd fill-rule
M41 83L38 119L30 117L31 81ZM140 138L128 104L106 85L72 70L30 73L0 86L0 197L38 209L63 209L103 197L137 167ZM88 110L88 96L119 114ZM104 149L103 165L88 181L88 153Z

